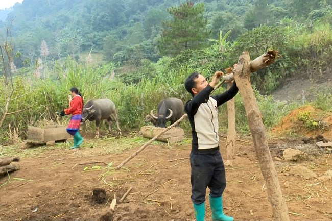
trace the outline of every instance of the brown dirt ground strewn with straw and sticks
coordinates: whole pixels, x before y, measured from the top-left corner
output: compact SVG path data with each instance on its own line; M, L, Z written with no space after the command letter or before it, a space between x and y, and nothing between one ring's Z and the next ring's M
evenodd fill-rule
M20 170L10 178L0 178L0 220L195 220L190 200L190 140L172 145L154 142L115 171L115 166L146 142L136 136L121 138L121 142L116 139L91 139L77 151L63 144L0 150L25 156L19 162ZM224 147L225 139L221 137L221 141ZM273 220L254 146L247 142L236 143L233 167L226 167L224 212L234 220ZM273 158L286 148L310 154L310 159L302 162L275 161L291 220L332 220L332 180L305 180L289 173L293 165L303 165L322 176L332 169L330 154L300 139L271 138L269 144ZM224 148L221 152L225 156ZM89 163L93 161L102 162ZM130 187L131 192L120 203ZM117 203L112 211L114 197ZM206 211L205 220L210 221L208 198Z

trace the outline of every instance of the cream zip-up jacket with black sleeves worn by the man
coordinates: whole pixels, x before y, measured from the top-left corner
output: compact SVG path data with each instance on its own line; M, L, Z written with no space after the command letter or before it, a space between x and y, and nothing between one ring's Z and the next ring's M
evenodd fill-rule
M218 107L238 93L235 82L222 94L210 96L212 90L214 88L208 85L185 104L185 112L192 126L194 152L208 153L219 150Z

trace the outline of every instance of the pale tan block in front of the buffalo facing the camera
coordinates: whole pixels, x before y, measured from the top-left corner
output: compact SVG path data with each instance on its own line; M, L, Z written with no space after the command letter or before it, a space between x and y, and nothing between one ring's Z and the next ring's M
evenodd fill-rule
M165 128L156 128L153 126L143 126L140 128L140 132L142 133L143 137L145 138L153 138ZM157 140L169 143L176 143L182 141L184 138L184 131L182 128L171 128L169 131L165 132L164 134L160 135Z

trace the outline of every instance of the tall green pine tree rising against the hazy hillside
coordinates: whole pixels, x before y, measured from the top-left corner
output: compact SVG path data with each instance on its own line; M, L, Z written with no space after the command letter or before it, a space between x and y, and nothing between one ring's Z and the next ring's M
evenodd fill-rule
M182 50L199 49L207 44L211 31L206 29L203 3L187 2L167 11L173 18L163 22L158 41L160 54L174 56Z

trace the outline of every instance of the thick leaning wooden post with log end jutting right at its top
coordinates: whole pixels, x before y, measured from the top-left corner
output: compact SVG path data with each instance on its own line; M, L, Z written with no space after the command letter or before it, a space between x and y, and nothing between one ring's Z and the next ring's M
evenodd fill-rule
M280 183L274 167L274 163L269 150L266 138L265 126L262 115L259 112L257 101L250 82L250 72L261 69L272 64L277 56L277 51L269 51L250 62L248 52L244 52L234 69L234 78L239 88L248 124L253 138L256 155L260 164L267 192L268 200L272 206L275 221L289 221L289 214L286 201L282 197Z

